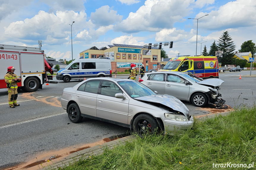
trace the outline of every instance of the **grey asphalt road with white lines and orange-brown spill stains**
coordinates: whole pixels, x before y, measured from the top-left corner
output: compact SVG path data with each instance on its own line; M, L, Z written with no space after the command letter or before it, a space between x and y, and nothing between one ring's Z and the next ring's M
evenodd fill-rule
M240 74L242 79L239 79ZM225 104L234 107L255 103L256 77L244 77L249 74L249 71L220 74L220 79L225 81L220 89ZM256 75L256 71L252 71L252 75ZM21 106L14 109L8 106L7 89L0 89L0 169L68 153L88 143L124 135L129 131L128 128L92 119L71 123L61 107L60 98L64 88L73 87L79 82L58 81L58 84L43 85L43 89L33 93L20 90L17 101ZM218 112L211 105L198 108L189 102L184 103L190 114L195 116Z

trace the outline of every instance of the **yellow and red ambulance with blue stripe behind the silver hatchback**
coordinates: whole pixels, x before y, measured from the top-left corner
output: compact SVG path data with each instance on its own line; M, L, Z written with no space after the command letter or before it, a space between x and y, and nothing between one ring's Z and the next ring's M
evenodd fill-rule
M196 77L219 78L219 64L216 56L181 56L171 58L163 71L180 71L192 73Z

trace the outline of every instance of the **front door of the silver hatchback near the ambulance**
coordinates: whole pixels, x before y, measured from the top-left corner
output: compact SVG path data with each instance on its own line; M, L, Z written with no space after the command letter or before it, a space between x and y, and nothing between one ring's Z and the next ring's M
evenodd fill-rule
M190 85L185 84L185 79L178 75L167 74L165 83L165 93L177 97L178 99L187 100Z

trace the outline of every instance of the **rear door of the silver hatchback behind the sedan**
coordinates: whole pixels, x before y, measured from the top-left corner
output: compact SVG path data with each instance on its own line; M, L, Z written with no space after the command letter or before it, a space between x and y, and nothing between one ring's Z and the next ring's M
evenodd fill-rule
M143 82L144 85L151 88L154 91L157 91L158 94L166 94L165 93L165 74L150 74L148 79Z

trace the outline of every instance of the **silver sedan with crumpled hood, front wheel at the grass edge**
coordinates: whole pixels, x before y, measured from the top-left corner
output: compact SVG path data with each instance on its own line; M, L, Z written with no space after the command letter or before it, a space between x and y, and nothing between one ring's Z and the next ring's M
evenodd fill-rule
M172 133L193 126L193 117L176 97L158 95L127 79L91 78L65 88L61 106L71 122L83 117L128 127L143 136L156 130Z

